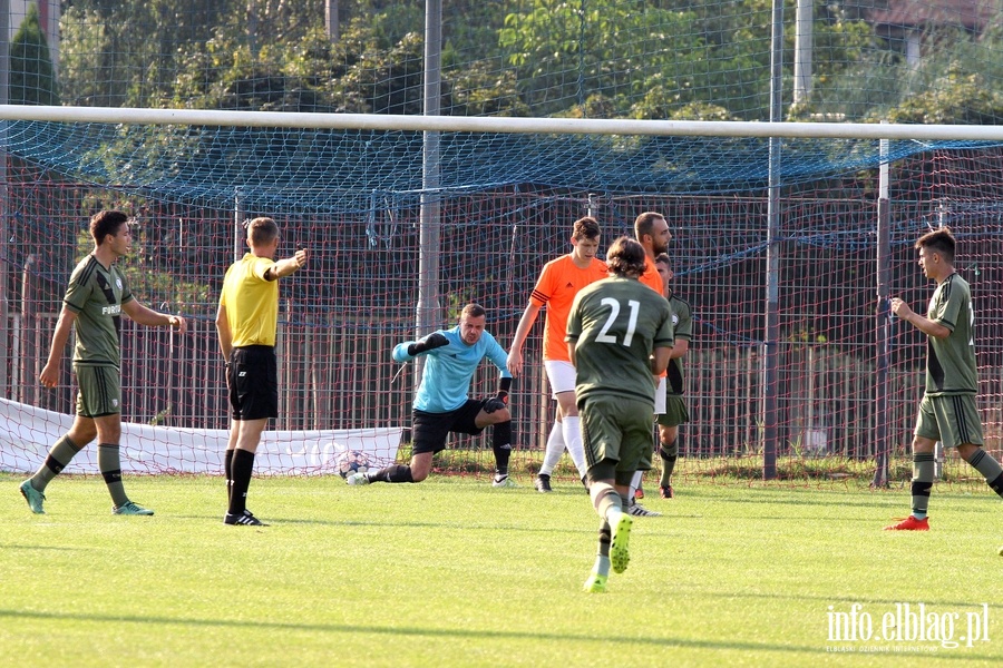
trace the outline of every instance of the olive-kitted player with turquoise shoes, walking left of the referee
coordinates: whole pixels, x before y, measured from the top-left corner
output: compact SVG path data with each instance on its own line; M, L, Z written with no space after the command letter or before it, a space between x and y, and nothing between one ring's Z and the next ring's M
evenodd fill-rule
M111 494L111 512L152 515L152 510L129 500L121 484L121 351L118 338L121 314L140 325L174 327L182 334L188 324L179 315L157 313L137 302L125 276L115 266L115 261L126 255L133 243L127 215L116 210L95 214L90 218L90 236L94 250L70 275L52 334L49 360L39 374L46 387L58 384L62 353L70 330L75 330L74 374L79 386L77 415L70 430L52 444L35 475L21 483L21 494L31 512L43 514L46 485L97 436L98 469Z

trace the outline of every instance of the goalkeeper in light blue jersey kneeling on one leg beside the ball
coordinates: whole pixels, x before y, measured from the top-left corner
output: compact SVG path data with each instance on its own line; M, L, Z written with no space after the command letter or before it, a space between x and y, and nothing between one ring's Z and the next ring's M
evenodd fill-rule
M411 420L411 463L392 464L379 471L353 473L349 484L370 482L421 482L431 471L435 453L446 449L449 432L477 435L490 424L495 452L494 487L515 487L508 478L512 454L512 413L508 391L512 374L507 353L487 332L487 312L478 304L467 304L459 324L451 330L432 332L419 341L400 343L393 348L397 362L425 356L425 372L415 395ZM487 399L469 399L470 381L480 361L487 357L501 371L498 393Z

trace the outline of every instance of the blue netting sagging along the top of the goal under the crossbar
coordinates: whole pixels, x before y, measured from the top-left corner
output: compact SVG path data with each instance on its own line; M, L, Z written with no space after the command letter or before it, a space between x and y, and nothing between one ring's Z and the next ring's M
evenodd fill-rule
M259 208L361 212L372 193L422 188L422 137L403 131L156 127L14 121L8 150L103 187L166 202L231 202ZM975 141L890 141L888 159ZM445 191L533 186L612 194L727 194L767 186L763 138L441 135ZM874 168L879 143L786 139L780 185ZM125 185L123 185L125 184Z

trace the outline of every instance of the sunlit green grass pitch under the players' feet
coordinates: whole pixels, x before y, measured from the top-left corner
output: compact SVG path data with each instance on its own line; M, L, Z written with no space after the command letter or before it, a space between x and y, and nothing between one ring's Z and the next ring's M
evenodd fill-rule
M153 518L113 517L95 477L57 479L32 515L20 480L0 475L4 666L1003 662L1003 504L987 491L938 488L933 530L899 533L880 529L907 512L902 490L681 484L646 500L665 517L636 519L630 568L586 595L598 520L573 482L256 479L250 508L272 525L254 529L222 523L220 479L128 479ZM921 602L960 615L955 638L989 603L990 641L828 638L830 606L861 603L879 632Z

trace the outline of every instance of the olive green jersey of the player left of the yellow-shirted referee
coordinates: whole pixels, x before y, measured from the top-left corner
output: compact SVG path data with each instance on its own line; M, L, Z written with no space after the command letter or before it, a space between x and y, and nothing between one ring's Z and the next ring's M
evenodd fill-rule
M62 297L64 305L77 315L75 364L119 366L121 305L132 301L133 293L114 265L105 268L94 255L80 261Z

